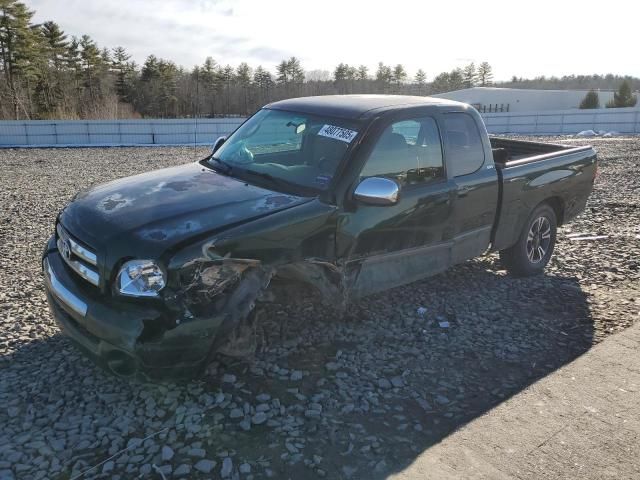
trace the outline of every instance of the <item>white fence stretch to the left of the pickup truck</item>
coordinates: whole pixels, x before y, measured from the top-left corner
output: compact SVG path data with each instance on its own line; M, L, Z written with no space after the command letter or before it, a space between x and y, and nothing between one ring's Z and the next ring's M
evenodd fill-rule
M0 121L0 147L211 145L244 118Z

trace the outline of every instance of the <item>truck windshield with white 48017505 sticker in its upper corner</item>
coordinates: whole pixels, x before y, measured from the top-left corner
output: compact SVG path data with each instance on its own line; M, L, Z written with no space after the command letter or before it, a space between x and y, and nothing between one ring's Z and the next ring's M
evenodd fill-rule
M305 189L328 187L358 131L354 122L262 109L213 157L233 175L251 175Z

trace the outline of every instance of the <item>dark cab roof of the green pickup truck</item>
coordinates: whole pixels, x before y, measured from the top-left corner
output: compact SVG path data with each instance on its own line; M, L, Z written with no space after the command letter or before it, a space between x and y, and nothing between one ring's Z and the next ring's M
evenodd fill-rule
M323 95L280 100L265 108L356 120L383 111L420 106L466 107L466 104L410 95Z

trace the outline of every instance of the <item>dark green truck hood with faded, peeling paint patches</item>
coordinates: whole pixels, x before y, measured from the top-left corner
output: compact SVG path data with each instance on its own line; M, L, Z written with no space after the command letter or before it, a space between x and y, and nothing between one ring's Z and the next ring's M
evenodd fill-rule
M115 180L80 192L60 221L103 250L128 244L130 255L158 254L198 234L262 217L309 198L274 192L198 163Z

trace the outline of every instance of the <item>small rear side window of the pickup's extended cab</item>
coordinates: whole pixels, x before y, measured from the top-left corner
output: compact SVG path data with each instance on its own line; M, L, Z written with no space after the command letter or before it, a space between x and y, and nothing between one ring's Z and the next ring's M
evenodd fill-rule
M484 163L484 148L475 120L466 113L446 113L445 146L454 177L469 175Z

